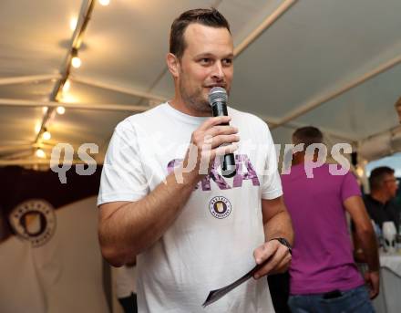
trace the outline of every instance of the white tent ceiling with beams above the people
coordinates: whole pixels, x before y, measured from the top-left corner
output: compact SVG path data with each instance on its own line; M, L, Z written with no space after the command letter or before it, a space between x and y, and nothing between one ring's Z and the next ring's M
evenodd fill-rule
M94 142L102 160L119 120L173 95L165 66L172 20L211 5L230 21L236 47L231 106L269 122L276 142L315 125L367 159L401 150L391 140L401 96L399 0L96 1L80 37L82 66L71 68L61 99L66 114L51 114L52 139L36 141L91 3L0 2L0 164L36 162L33 147L49 154L57 142ZM380 149L375 134L388 139Z

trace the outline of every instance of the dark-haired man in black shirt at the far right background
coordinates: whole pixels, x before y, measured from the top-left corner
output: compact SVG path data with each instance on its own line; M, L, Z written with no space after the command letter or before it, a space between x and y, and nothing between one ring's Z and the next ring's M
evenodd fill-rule
M365 206L370 218L380 228L384 222L394 222L399 230L399 210L393 199L396 197L398 181L394 170L387 166L375 168L369 176L370 194L364 197Z

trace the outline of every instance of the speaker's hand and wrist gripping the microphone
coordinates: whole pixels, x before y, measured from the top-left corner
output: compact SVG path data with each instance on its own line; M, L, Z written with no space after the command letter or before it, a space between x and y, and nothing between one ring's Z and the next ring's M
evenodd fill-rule
M219 116L205 120L190 138L180 172L189 173L190 178L198 183L207 175L216 156L232 153L238 149L240 141L238 129L229 125L231 117Z

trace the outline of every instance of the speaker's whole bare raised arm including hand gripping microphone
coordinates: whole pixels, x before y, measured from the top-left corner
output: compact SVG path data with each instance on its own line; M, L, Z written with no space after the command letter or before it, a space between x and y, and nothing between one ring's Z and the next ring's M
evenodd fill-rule
M99 206L99 243L102 255L110 264L127 264L158 241L180 214L196 183L205 176L200 173L202 164L208 164L210 170L217 155L237 149L231 143L239 141L238 130L220 125L230 120L230 117L217 117L203 122L192 133L190 148L180 169L143 199ZM221 146L222 143L229 145ZM177 181L178 172L182 177L180 182Z

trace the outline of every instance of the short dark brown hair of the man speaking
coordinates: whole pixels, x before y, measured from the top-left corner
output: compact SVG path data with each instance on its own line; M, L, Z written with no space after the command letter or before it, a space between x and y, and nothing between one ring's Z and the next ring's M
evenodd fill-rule
M216 28L225 27L230 32L229 22L214 7L210 9L193 9L182 13L174 20L170 30L170 53L179 59L187 47L184 40L185 29L194 23Z

